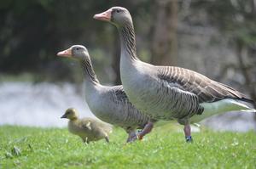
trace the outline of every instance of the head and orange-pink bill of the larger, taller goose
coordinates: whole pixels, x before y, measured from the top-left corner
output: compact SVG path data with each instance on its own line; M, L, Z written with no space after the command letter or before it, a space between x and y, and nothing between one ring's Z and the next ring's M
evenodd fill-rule
M116 25L117 27L122 27L124 25L132 25L132 19L130 12L123 7L112 7L101 14L95 14L94 19L103 20Z

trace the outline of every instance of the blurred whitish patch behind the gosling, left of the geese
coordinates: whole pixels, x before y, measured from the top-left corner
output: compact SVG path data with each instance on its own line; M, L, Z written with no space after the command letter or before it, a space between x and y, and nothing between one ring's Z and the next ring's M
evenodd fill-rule
M81 117L95 117L69 83L3 82L0 91L0 125L66 127L60 117L68 107L79 110Z

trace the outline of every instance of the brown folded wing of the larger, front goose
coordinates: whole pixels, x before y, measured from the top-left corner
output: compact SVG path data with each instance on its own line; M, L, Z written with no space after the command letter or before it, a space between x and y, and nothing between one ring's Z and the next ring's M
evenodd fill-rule
M168 82L183 91L194 93L200 103L212 103L221 99L239 99L253 103L244 94L220 82L212 81L193 70L174 66L157 66L158 76L162 81Z

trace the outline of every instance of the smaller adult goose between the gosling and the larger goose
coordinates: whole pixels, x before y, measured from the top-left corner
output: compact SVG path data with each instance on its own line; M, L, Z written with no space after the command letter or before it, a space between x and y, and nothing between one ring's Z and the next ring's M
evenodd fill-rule
M153 128L154 120L148 115L140 113L129 102L125 91L119 86L103 86L98 81L91 65L87 49L81 45L74 45L59 52L58 56L77 59L84 70L85 99L94 115L102 121L117 125L129 134L127 142L142 139ZM136 129L143 129L136 133Z

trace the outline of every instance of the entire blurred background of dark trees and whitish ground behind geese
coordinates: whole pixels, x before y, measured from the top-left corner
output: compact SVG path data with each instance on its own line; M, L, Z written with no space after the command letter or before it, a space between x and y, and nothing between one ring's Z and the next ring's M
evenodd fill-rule
M92 18L113 6L130 10L140 59L198 71L256 101L255 0L1 0L0 125L62 127L68 107L93 116L79 65L55 54L82 44L100 82L121 84L117 30ZM204 124L245 132L256 128L256 115Z

